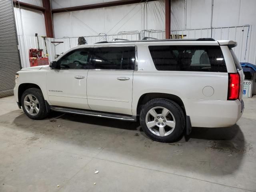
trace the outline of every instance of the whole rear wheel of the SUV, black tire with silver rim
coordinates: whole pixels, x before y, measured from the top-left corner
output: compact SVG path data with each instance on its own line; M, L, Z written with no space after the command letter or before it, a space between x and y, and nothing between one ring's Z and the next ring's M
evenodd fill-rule
M184 131L185 116L177 103L168 99L156 98L142 107L140 125L152 140L174 142Z

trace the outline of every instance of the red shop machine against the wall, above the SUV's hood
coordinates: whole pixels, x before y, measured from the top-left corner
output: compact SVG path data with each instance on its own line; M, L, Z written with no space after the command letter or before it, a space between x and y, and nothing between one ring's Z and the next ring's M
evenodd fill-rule
M38 49L30 49L29 50L30 67L49 64L48 58L42 57L43 50L39 48L39 40L38 40L37 33L36 33L36 37L37 37ZM44 38L44 41L45 41L45 38ZM45 42L45 45L46 45L46 42ZM48 56L47 48L46 48L46 56Z

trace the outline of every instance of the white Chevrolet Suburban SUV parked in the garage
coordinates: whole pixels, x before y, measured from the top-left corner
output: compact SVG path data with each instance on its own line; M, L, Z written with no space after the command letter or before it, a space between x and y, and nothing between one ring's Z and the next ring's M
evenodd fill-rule
M31 119L53 110L140 120L150 138L172 142L192 126L232 126L242 116L234 46L211 38L76 46L50 66L20 70L14 95Z

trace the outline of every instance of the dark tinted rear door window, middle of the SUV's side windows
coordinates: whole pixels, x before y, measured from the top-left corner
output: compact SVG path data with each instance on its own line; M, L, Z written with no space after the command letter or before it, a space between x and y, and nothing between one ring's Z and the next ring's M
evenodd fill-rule
M94 48L93 69L134 70L135 47Z

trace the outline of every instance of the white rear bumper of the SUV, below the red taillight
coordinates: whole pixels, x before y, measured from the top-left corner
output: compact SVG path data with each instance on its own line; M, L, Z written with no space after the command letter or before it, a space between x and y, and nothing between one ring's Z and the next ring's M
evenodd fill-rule
M244 101L182 100L193 127L228 127L242 116Z

